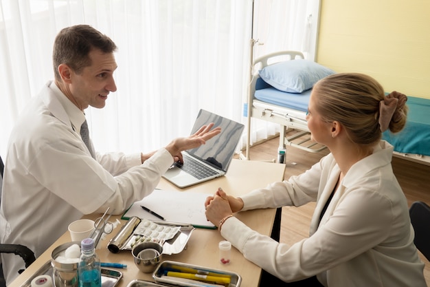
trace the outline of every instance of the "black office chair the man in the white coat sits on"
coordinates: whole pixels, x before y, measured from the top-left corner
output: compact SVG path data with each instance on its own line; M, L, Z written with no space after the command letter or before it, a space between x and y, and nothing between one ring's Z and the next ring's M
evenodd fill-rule
M0 202L1 202L1 185L3 184L3 170L4 164L3 160L1 160L0 156ZM30 266L36 260L34 257L33 251L27 246L23 246L21 244L0 244L0 253L14 253L15 255L19 255L23 258L25 262L25 268ZM23 269L18 270L18 273L22 273ZM0 264L0 287L5 287L5 279L3 275L3 269Z

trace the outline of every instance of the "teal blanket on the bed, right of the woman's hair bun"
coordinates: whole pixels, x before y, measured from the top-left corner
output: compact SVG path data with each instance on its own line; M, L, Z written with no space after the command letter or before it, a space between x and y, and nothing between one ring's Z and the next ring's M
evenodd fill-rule
M409 111L405 128L397 134L385 131L383 139L399 153L430 156L430 100L408 96L406 105Z

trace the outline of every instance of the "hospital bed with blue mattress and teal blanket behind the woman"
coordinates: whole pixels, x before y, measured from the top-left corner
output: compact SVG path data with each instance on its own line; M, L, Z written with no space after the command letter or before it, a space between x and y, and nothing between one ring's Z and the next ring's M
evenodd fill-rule
M280 51L262 56L253 62L247 101L247 159L249 159L249 148L251 146L251 118L258 118L280 125L280 148L285 148L289 145L309 152L318 152L325 148L324 145L319 145L310 140L310 133L306 125L306 112L312 89L305 89L300 93L298 93L299 91L285 92L278 89L278 86L276 88L269 84L272 84L273 78L276 81L282 81L280 77L282 78L285 75L279 72L280 70L273 69L271 72L279 72L282 76L272 74L269 75L269 79L267 79L267 74L262 73L266 67L274 67L280 63L291 63L290 61L300 59L304 59L302 52ZM322 69L322 72L317 71L319 72L318 74L315 71L311 71L314 72L311 73L314 78L305 78L305 80L308 80L308 87L312 87L313 83L316 83L319 78L334 73L330 69L327 70L321 65L316 65L318 69ZM316 77L315 73L318 74ZM264 80L260 74L265 77ZM295 76L297 75L293 74L293 77ZM309 75L305 73L302 76ZM296 81L297 78L293 80ZM405 128L398 134L385 131L383 140L387 140L394 146L394 156L430 165L430 99L408 96L407 106L409 107L409 113ZM289 132L292 130L297 132ZM293 134L293 136L289 136L290 134Z

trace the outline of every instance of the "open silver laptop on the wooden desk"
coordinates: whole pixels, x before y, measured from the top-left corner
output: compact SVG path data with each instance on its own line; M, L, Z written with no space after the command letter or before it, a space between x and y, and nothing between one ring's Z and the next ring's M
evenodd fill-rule
M221 127L220 134L207 140L205 145L183 151L183 163L174 162L164 173L163 178L183 188L227 173L245 125L201 109L191 134L194 134L202 125L210 123L214 123L214 127Z

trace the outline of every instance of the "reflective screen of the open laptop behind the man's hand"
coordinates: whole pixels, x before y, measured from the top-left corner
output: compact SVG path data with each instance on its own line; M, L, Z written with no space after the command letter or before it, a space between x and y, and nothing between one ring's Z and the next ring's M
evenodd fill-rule
M221 127L221 133L207 140L205 145L196 149L189 149L188 153L212 165L212 167L227 171L245 125L201 109L191 134L194 134L202 125L210 123L214 123L214 127Z

